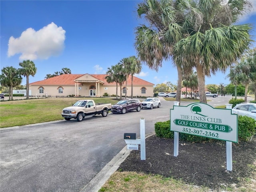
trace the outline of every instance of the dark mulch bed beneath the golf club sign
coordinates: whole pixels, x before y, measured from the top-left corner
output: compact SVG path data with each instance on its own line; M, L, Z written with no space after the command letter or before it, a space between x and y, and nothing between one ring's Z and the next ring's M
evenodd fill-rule
M133 150L119 169L159 174L211 189L220 189L221 185L239 186L241 178L250 177L252 171L255 171L256 139L254 137L250 142L232 143L232 171L226 170L225 141L180 141L178 156L174 157L173 154L173 139L153 135L146 139L146 160L140 160L140 150Z

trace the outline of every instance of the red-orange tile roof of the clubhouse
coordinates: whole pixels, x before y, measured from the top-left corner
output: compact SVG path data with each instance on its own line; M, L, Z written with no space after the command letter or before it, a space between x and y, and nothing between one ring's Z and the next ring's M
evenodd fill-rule
M42 81L36 81L36 82L32 82L30 83L30 85L75 85L74 80L83 76L85 74L63 74L63 75L58 75L52 78L48 78ZM89 74L90 76L97 78L98 80L101 80L104 83L104 85L116 85L115 82L113 83L108 83L105 79L105 77L107 76L106 74ZM124 82L124 85L126 84L126 82ZM127 81L127 85L144 85L144 86L154 86L154 84L142 80L138 77L133 76L133 83L132 83L132 76L128 77L128 81Z

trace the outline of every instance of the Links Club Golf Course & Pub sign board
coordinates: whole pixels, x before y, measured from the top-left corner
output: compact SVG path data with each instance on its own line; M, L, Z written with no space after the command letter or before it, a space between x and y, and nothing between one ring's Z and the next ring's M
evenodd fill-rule
M205 103L173 106L170 122L171 131L238 142L238 117L230 109L213 108Z

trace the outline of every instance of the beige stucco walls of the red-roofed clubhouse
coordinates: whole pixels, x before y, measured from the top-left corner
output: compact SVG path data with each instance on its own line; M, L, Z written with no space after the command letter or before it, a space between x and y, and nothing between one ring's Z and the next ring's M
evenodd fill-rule
M79 86L78 95L80 96L90 96L90 86L94 85L95 83L83 83ZM58 93L59 86L56 85L44 85L44 93L39 93L39 85L30 85L29 89L31 90L31 96L68 96L75 94L75 86L62 86L63 93ZM122 86L122 88L125 86ZM146 88L146 94L141 93L141 88ZM127 96L131 96L131 86L127 86ZM104 93L108 93L110 96L116 94L116 85L106 86L104 84L100 84L100 93L99 96L103 96ZM125 94L122 94L124 96ZM153 86L133 86L133 96L146 96L152 97L153 96ZM118 96L120 96L120 86L118 85Z

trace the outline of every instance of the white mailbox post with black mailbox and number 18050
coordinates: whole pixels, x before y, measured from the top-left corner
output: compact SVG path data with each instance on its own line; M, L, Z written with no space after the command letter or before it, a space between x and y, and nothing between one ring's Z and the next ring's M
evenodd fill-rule
M140 119L140 139L136 139L136 133L124 133L124 141L127 149L138 150L140 145L140 160L146 160L146 141L145 141L145 120Z

